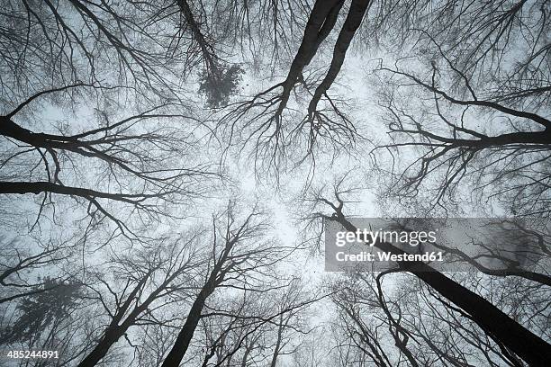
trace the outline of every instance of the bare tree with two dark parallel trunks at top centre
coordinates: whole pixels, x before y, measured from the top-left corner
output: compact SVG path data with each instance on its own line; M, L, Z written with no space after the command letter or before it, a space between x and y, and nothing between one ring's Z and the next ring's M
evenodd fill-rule
M317 77L309 80L304 76L305 68L320 53L321 44L336 26L344 3L340 0L315 2L285 80L253 95L247 101L230 104L229 112L221 118L218 126L226 131L230 139L241 135L238 134L239 130L246 129L243 139L245 144L252 142L256 147L255 160L267 157L270 164L277 166L280 158L278 156L285 157L285 149L293 145L301 146L305 142L306 157L310 157L318 139L327 139L335 148L344 148L357 138L356 128L346 113L341 111L340 103L329 96L328 90L339 74L348 46L364 19L369 1L353 1L350 4L348 15L335 42L329 70L319 85L314 87ZM298 96L296 101L291 101L297 86L302 86L306 94L312 94L304 117L300 117L300 112L294 112L295 107L289 106L290 103L299 103L299 106L301 104ZM315 89L314 92L311 92L312 88ZM327 106L319 108L322 98L327 101ZM293 111L288 117L285 117L286 109ZM294 126L287 126L292 121L299 122L294 123Z

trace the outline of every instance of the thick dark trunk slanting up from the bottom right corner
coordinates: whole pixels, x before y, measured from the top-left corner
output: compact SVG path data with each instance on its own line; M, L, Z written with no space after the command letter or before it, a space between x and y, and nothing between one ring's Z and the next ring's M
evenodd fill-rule
M331 217L331 220L338 221L348 231L356 232L357 230L340 212L336 217ZM386 242L376 242L375 246L384 252L395 255L405 253L400 248ZM551 345L527 328L522 327L501 309L484 300L483 297L447 278L446 275L434 270L428 264L422 262L400 262L398 264L402 270L413 273L444 298L465 310L484 332L498 340L514 354L519 355L528 364L545 366L551 361Z

